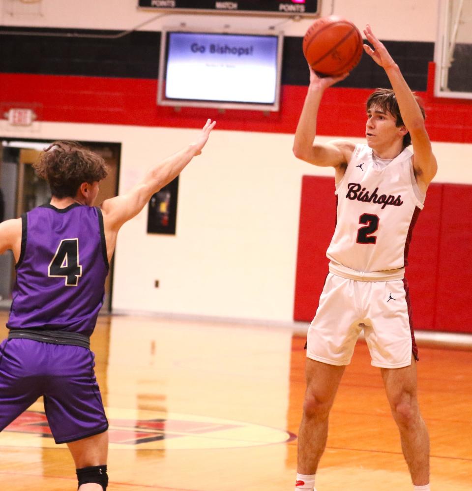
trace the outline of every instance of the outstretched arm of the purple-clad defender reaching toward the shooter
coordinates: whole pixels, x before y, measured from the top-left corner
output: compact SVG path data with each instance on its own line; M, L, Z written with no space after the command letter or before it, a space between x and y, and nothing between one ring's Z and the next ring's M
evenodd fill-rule
M144 208L154 193L175 179L193 157L202 153L215 124L207 120L193 143L149 169L144 179L126 194L104 201L102 211L106 228L118 232L123 223Z

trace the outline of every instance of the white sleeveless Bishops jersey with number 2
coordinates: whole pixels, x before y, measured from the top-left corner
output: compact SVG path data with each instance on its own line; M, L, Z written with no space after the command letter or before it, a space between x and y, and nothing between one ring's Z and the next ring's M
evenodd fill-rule
M371 148L356 145L335 194L336 228L326 252L330 271L365 280L403 278L413 225L424 201L412 153L405 149L382 165L374 161Z

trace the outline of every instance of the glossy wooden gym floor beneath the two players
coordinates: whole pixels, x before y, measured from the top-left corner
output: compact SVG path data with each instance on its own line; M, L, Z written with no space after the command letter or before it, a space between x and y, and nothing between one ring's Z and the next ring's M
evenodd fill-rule
M92 349L110 420L109 491L292 491L304 341L269 325L99 317ZM432 490L471 491L472 351L420 345L420 359ZM76 489L72 459L38 401L0 433L0 490ZM379 370L360 341L317 489L412 489Z

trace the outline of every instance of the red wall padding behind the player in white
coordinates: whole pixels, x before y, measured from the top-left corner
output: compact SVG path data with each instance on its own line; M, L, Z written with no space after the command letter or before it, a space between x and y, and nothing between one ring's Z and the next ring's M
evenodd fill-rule
M303 176L294 319L311 321L327 274L334 178ZM431 184L413 229L409 266L415 329L472 333L472 186Z

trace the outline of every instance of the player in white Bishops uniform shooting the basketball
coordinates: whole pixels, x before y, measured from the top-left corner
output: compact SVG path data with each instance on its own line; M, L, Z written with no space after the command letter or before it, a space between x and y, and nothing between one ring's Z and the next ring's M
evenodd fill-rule
M329 274L308 330L295 490L314 490L328 415L363 330L372 365L382 373L414 490L429 491L429 436L416 396L418 358L404 266L437 164L424 112L398 65L369 25L364 34L372 45L364 44L365 53L383 67L393 89L377 89L367 100L367 144L315 139L324 90L348 74L320 78L310 68L295 132L297 158L334 167L337 196L337 223L326 253ZM414 154L407 148L411 143Z

